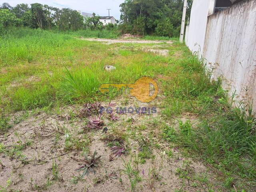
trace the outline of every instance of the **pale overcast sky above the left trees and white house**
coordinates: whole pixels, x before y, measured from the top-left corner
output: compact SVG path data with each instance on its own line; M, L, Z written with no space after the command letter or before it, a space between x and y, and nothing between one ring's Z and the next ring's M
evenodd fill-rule
M11 6L16 6L16 4L21 3L48 4L58 8L71 8L87 13L95 12L100 16L108 16L108 10L106 9L111 9L110 16L120 19L121 13L119 5L123 3L124 0L0 0L0 4L3 2L8 2Z

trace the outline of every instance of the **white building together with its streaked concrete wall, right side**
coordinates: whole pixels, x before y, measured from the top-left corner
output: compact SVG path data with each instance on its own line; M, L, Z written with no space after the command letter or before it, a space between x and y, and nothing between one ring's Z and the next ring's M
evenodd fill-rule
M256 112L256 0L193 0L185 42L214 79Z

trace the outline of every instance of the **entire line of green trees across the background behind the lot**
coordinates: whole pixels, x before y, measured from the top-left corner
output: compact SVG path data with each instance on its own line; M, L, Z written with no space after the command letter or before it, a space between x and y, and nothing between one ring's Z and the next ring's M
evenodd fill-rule
M8 3L0 6L0 32L12 26L29 28L79 30L83 28L120 30L122 34L155 34L158 36L178 36L182 19L184 0L125 0L120 4L120 23L103 26L100 17L93 13L84 18L76 10L55 8L39 3ZM188 0L187 17L190 15L192 0Z

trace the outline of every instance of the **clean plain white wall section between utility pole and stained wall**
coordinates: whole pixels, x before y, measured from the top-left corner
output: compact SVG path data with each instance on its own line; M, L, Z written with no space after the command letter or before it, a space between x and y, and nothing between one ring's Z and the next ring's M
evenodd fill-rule
M215 0L194 0L190 14L186 45L190 50L202 54L206 34L207 16L214 11Z

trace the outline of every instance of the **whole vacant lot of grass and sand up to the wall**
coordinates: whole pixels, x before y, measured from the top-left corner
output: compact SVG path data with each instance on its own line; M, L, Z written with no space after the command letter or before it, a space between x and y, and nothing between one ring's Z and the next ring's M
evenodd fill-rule
M0 38L0 191L255 191L250 104L231 107L184 44L122 41L28 29ZM158 84L150 103L98 90L142 76Z

